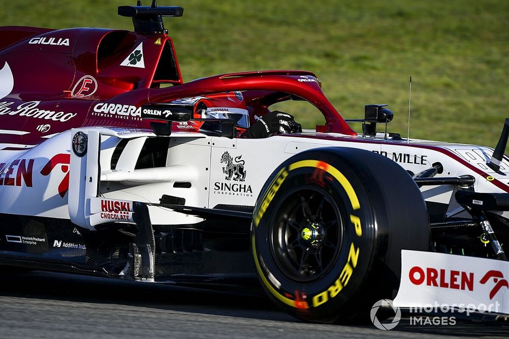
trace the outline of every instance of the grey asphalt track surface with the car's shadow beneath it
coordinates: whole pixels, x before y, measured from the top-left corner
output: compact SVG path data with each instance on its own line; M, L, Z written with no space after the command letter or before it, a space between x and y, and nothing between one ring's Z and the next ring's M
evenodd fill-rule
M389 331L318 325L263 295L211 292L49 272L0 273L0 338L509 337L509 323L458 322Z

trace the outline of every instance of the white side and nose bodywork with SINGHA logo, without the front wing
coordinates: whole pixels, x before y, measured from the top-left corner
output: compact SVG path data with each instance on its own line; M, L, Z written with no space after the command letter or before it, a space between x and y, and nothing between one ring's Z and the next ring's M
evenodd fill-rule
M73 136L79 131L88 135L88 151L81 158L71 150ZM132 206L129 206L131 211L124 210L127 213L119 218L119 209L127 205L122 208L109 205L98 211L100 201L95 205L91 203L96 197L157 204L162 195L170 195L184 198L185 205L193 207L253 206L265 181L279 164L296 153L329 146L377 152L413 173L440 162L444 172L437 177L468 174L475 178L476 192L509 192L506 176L486 165L493 152L488 147L422 140L407 143L406 140L384 140L383 136L351 137L315 132L265 139L229 139L176 132L167 137L170 140L165 167L134 169L145 140L154 137L156 135L148 130L80 128L55 135L26 151L0 151L0 167L3 167L0 213L71 219L93 230L98 224L132 221ZM111 169L111 157L122 139L129 141L116 168ZM55 155L61 155L60 162L54 159ZM237 172L229 174L227 162L221 162L223 156L230 159L234 171L241 167L243 177ZM67 161L62 161L64 158ZM509 163L505 159L501 172L509 174ZM69 176L68 191L64 190L66 176ZM175 182L187 182L190 187L174 187ZM422 188L427 201L444 204L449 203L452 191L451 186ZM450 213L462 211L461 208L453 210L453 207L449 208ZM150 214L153 224L201 221L158 206L150 206Z

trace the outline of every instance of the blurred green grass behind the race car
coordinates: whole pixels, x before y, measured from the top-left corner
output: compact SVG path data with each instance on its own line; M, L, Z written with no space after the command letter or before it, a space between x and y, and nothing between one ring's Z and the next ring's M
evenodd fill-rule
M494 146L509 116L508 1L304 0L181 5L165 19L184 80L247 70L315 72L346 118L369 103L394 111L392 132L406 136L412 76L411 136ZM134 1L4 2L0 25L131 29L118 5ZM148 5L148 1L144 1ZM300 107L300 106L299 106ZM294 113L314 124L307 106ZM356 126L358 128L358 126Z

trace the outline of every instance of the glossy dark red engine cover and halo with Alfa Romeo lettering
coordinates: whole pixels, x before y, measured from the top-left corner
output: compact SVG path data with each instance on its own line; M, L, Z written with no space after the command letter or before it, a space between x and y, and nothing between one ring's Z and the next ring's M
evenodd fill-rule
M144 68L121 64L143 43ZM251 111L288 94L315 105L324 131L350 129L306 71L234 73L183 83L173 41L165 34L126 30L0 27L0 70L8 65L14 86L0 98L0 143L35 145L43 137L83 126L149 128L135 110L147 103L242 91ZM171 87L160 88L161 84ZM1 86L1 84L0 84Z

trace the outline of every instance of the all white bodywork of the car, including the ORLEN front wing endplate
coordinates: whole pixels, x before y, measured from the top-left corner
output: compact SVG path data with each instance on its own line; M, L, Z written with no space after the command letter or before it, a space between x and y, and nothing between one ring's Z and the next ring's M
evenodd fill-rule
M72 148L78 132L88 136L88 149L82 157ZM135 169L147 138L169 138L165 166ZM127 140L127 144L112 169L112 157L121 140ZM278 165L296 153L330 146L373 151L413 173L441 163L444 171L437 177L472 175L476 192L509 192L509 163L504 158L500 168L503 174L493 172L486 165L493 152L488 147L315 132L266 139L229 139L189 132L161 137L147 130L95 127L55 135L26 151L0 151L0 213L70 219L95 230L98 225L133 222L133 202L158 204L163 195L183 198L185 205L192 207L254 206ZM453 186L421 189L427 201L447 204L449 217L466 213L451 199L453 190ZM149 206L149 212L154 225L202 221L155 205ZM507 262L404 250L402 264L401 288L394 301L397 306L419 308L438 302L452 307L463 303L469 312L482 312L483 305L493 304L497 309L487 311L509 314ZM431 269L431 274L438 275L431 280L424 276L422 283L415 284L421 278L420 271L415 273L413 267L420 267L423 274ZM488 272L498 275L493 281L481 283ZM504 283L494 293L497 279Z

